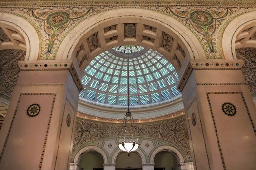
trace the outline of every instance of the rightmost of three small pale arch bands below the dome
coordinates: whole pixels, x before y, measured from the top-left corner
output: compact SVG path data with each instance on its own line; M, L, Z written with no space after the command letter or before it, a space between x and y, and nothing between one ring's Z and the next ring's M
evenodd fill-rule
M177 150L176 148L172 147L172 146L168 146L168 145L164 145L164 146L159 146L158 148L156 148L153 153L151 154L150 156L150 163L154 163L154 158L156 156L157 153L161 152L161 151L171 151L171 152L174 152L176 153L177 155L177 158L178 158L178 161L179 163L183 163L184 162L184 157L183 155L180 153L179 150Z

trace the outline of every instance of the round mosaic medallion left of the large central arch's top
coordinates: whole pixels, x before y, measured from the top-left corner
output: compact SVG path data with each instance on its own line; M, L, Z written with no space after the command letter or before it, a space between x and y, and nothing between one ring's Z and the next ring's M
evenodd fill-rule
M69 13L59 11L59 12L50 14L47 17L46 22L52 27L59 27L61 25L66 24L69 21L69 19L70 19Z

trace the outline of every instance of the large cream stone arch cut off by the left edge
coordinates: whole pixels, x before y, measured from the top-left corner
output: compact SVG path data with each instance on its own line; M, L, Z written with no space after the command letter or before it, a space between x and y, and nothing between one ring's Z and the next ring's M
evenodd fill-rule
M10 36L10 41L1 43L1 49L26 51L25 60L37 60L39 36L35 28L22 17L0 12L0 27Z

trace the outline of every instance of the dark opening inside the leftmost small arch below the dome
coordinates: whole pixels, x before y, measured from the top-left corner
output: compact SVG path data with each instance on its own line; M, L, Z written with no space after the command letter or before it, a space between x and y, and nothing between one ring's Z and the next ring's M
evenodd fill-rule
M79 165L83 170L93 170L93 168L103 168L103 157L100 153L91 151L83 153Z

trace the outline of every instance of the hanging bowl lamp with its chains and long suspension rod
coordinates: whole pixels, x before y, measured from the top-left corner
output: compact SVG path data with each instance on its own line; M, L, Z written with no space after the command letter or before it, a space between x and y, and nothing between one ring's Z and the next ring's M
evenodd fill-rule
M127 52L127 88L128 88L128 108L127 112L124 115L123 119L123 129L122 129L122 136L119 139L118 147L122 150L128 153L128 156L130 156L130 153L132 151L135 151L138 149L138 138L136 136L135 132L135 126L134 126L134 120L133 120L133 114L130 112L129 104L130 104L130 87L129 87L129 45L128 45L128 52ZM126 136L131 136L131 139L126 139ZM135 135L135 136L134 136ZM136 137L136 139L134 139Z

